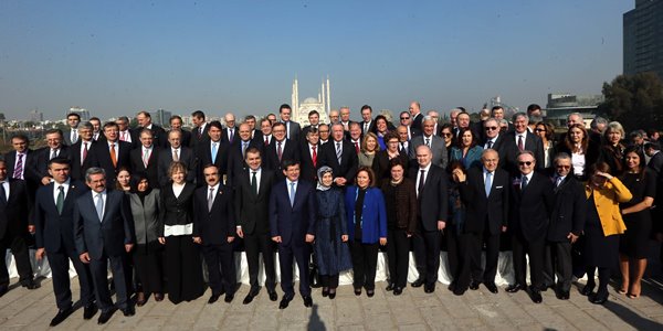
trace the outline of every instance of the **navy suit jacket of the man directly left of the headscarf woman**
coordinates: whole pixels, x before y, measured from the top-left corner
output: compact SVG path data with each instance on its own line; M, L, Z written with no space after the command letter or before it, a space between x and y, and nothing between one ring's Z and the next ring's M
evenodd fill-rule
M270 193L270 232L272 237L281 236L283 246L302 247L307 234L315 235L315 188L307 181L297 181L292 206L288 191L286 180L280 180Z

